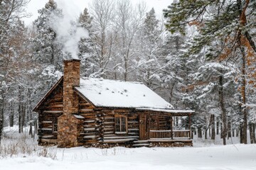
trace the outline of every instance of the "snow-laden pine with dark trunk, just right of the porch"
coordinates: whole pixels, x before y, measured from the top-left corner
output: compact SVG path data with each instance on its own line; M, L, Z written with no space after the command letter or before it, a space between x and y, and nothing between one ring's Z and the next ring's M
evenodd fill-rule
M199 103L198 113L205 118L205 131L210 128L210 115L215 115L223 125L223 145L226 145L228 123L230 115L235 110L239 112L238 102L235 99L235 84L237 70L232 64L220 62L205 62L198 68L198 72L191 74L193 77L193 92ZM234 109L236 108L236 109ZM207 132L205 132L205 135Z

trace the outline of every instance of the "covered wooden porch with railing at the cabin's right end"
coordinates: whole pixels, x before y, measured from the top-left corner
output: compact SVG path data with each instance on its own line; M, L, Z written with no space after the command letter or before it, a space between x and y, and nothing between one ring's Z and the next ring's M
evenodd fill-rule
M139 116L139 146L192 146L192 113L149 112Z

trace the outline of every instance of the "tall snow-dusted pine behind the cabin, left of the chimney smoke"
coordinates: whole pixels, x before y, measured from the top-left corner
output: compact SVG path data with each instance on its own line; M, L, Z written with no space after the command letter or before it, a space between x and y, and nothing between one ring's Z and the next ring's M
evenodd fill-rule
M36 35L33 37L33 60L38 65L38 77L34 86L36 94L43 96L58 78L63 67L63 45L56 40L56 33L50 26L53 17L63 16L62 10L53 0L49 0L44 8L38 10L39 16L33 22ZM39 98L38 98L39 100Z

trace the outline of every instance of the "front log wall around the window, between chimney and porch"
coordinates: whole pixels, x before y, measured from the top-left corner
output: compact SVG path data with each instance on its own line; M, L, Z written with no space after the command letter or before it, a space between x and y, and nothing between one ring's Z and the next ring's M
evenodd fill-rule
M80 134L85 145L112 145L139 139L139 117L132 109L95 108L79 97L79 114L85 118ZM127 132L114 132L114 115L127 116Z

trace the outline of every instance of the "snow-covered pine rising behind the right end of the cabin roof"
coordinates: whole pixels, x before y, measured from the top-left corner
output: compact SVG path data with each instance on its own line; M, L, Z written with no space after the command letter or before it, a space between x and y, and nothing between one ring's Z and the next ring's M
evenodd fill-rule
M161 53L164 57L161 69L161 86L165 98L174 105L175 108L184 108L182 96L186 91L183 89L188 84L188 70L186 67L187 58L182 57L186 50L186 37L180 33L164 33L164 45ZM185 106L185 108L188 106Z

